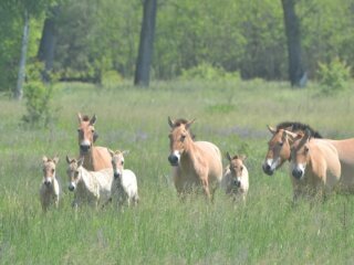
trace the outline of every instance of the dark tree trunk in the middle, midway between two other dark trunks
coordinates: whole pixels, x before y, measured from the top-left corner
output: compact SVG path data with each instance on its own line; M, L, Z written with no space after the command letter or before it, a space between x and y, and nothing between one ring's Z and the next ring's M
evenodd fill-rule
M136 61L134 85L148 86L154 51L157 0L144 0L139 51Z

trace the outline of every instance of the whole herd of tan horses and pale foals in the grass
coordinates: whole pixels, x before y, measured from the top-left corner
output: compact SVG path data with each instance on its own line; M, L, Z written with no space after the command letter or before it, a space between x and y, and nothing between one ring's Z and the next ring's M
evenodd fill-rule
M90 118L79 114L77 117L80 156L77 159L66 156L69 190L74 192L73 206L104 206L110 202L118 208L124 203L136 205L139 201L136 176L124 169L127 151L94 146L96 116ZM201 190L207 200L212 201L220 187L235 201L244 203L249 189L246 157L227 152L229 165L223 169L219 148L209 141L195 140L190 130L194 121L168 117L168 161L178 195L184 199L195 190ZM263 172L271 176L290 161L294 202L299 198L324 198L332 191L354 191L354 138L323 139L301 123L281 123L275 128L268 126L268 129L272 137L262 165ZM58 161L56 157L43 157L40 199L44 212L50 205L59 204Z

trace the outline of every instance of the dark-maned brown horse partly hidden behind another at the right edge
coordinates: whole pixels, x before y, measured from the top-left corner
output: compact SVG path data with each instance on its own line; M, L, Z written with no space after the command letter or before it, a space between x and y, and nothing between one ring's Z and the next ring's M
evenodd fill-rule
M263 163L263 171L267 174L272 174L278 168L280 168L284 161L290 160L290 149L293 144L296 134L287 130L285 128L273 129L268 127L272 134L272 138L269 141L269 149L266 156L266 161ZM291 127L289 129L292 129ZM312 137L319 137L319 134L314 131L311 127L306 125L299 128L298 131L304 131L309 129ZM320 140L320 139L319 139ZM354 192L354 138L332 140L322 139L323 141L329 141L334 146L339 152L339 158L341 161L341 181L340 190L346 192Z

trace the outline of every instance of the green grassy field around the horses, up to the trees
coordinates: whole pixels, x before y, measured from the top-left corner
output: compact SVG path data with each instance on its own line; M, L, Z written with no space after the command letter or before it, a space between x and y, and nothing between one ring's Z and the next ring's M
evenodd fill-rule
M62 84L46 129L20 125L24 103L0 97L0 264L353 264L354 198L291 204L288 167L273 177L261 163L270 134L283 120L310 124L323 136L354 135L354 91L324 97L315 87L284 83L176 82L149 89L129 85ZM97 115L97 145L127 149L140 204L117 212L70 204L65 156L76 156L76 113ZM171 184L167 116L196 118L198 139L222 153L244 153L250 172L247 205L218 191L181 203ZM59 155L63 195L42 213L41 158ZM223 160L226 165L226 159Z

